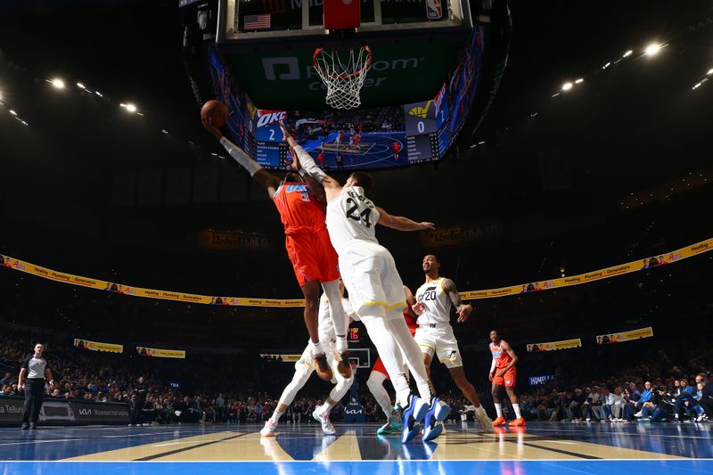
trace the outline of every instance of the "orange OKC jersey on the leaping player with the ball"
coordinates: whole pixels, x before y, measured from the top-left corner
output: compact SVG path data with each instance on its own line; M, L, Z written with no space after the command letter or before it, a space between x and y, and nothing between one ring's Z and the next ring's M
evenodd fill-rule
M287 235L316 233L326 228L324 204L305 183L283 182L277 188L273 202L280 211L280 220Z

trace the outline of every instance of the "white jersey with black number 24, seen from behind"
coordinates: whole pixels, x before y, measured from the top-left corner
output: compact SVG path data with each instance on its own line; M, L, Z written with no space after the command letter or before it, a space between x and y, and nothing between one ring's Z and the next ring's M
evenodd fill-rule
M348 186L327 204L327 230L332 246L342 256L353 240L373 242L376 239L376 223L379 211L365 197L360 186Z

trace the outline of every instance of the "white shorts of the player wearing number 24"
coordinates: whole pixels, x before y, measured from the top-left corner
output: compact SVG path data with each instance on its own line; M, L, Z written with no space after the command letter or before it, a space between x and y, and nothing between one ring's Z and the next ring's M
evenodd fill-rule
M390 310L406 307L404 283L389 250L374 242L354 240L340 254L340 274L349 292L352 309L365 317L402 315ZM377 308L378 307L378 308Z

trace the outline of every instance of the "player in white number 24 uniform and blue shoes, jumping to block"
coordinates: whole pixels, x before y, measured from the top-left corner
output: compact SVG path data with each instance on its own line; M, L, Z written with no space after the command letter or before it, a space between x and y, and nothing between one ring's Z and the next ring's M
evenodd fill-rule
M406 307L404 284L394 258L376 239L374 227L381 224L399 231L418 231L434 229L435 226L433 223L416 223L406 217L391 216L374 205L365 196L373 184L373 178L368 173L351 174L342 187L316 166L315 160L284 127L283 134L297 153L295 168L301 166L299 173L309 174L324 186L327 230L340 257L341 278L349 292L351 307L365 324L396 389L397 406L402 411L402 441L408 442L421 431L419 422L423 419L442 421L450 408L440 404L438 397L431 397L421 351L401 313ZM403 367L404 359L414 375L421 397L411 394ZM424 433L424 438L427 435Z

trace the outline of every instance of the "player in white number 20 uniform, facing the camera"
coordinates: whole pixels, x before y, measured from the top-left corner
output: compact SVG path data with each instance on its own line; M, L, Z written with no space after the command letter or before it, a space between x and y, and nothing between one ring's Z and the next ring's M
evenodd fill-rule
M480 426L483 430L492 431L492 422L480 405L478 392L471 381L465 378L463 358L451 326L453 307L458 314L458 323L468 320L472 307L463 303L452 280L438 274L439 268L440 263L436 256L429 254L423 258L422 269L426 274L426 282L416 291L416 304L413 308L414 313L419 316L415 340L423 352L423 363L426 365L429 379L430 363L435 354L438 355L440 362L446 365L448 373L451 374L458 389L463 392L463 396L475 406L475 417L480 422Z

